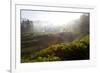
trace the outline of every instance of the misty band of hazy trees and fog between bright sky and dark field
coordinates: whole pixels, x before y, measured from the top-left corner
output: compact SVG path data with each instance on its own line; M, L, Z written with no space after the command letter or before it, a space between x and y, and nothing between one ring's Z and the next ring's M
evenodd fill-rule
M67 20L67 19L66 19ZM62 25L54 25L48 21L41 20L29 20L26 18L21 18L21 32L82 32L89 33L89 14L83 14L79 19L72 20L69 23Z

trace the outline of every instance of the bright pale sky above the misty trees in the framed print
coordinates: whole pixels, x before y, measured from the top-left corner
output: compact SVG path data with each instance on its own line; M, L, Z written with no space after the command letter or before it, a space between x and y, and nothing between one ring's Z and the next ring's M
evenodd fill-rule
M32 21L46 21L54 26L61 26L73 20L79 19L83 13L68 13L68 12L46 12L46 11L21 11L21 18L26 18ZM49 25L49 24L48 24ZM50 25L51 26L51 25Z

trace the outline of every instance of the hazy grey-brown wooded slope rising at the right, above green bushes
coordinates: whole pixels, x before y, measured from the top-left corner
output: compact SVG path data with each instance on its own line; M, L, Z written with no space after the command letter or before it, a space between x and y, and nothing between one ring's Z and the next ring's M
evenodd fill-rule
M89 34L89 17L89 14L83 14L79 19L72 21L72 24L66 25L65 30L73 33Z

